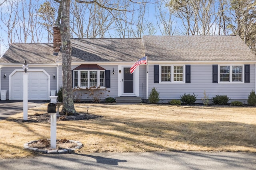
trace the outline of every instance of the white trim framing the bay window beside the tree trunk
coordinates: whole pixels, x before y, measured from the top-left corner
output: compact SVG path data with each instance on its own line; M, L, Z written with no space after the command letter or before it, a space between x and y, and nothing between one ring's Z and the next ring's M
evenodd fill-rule
M87 74L88 74L88 86L87 87L81 87L81 72L83 71L87 71ZM106 70L73 70L73 75L75 75L75 72L78 73L78 87L79 88L82 88L82 89L88 89L90 88L90 72L91 71L97 71L97 84L98 86L100 86L100 72L104 72L104 86L100 86L100 89L101 88L105 88L106 86ZM96 88L98 88L98 86ZM73 88L78 88L77 86L75 86L75 76L73 76Z

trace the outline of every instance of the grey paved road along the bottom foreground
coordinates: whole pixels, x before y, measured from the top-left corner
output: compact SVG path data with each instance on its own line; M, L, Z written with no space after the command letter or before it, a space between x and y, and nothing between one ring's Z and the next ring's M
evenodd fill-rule
M41 155L0 160L1 170L256 170L256 154L145 152Z

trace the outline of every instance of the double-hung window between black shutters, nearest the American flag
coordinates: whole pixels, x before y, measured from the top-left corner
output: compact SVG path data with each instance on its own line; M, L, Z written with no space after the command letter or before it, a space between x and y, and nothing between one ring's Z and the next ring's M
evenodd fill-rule
M184 83L184 66L170 65L160 67L161 83Z

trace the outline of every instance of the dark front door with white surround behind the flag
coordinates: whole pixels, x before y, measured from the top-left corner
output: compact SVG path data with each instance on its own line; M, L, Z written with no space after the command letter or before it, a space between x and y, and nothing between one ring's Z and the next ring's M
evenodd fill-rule
M124 67L123 92L133 93L133 73L130 73L130 67Z

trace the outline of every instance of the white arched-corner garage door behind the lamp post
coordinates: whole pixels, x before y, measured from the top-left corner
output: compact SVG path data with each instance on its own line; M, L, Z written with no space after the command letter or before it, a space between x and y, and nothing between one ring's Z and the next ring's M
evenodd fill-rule
M48 76L42 71L28 71L28 100L48 100ZM23 74L12 76L12 100L23 100Z

